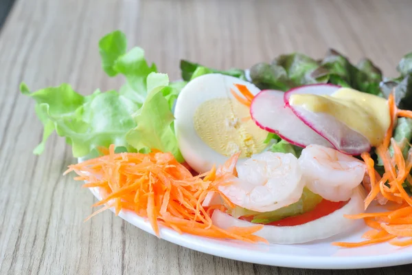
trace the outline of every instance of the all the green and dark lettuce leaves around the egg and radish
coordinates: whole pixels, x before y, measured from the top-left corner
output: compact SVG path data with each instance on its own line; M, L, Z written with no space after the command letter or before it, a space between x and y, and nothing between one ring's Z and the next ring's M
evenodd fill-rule
M44 126L43 140L34 153L41 154L47 138L56 131L72 146L74 157L97 155L100 146L115 144L117 151L168 151L183 162L174 135L174 102L188 81L212 73L248 80L260 89L282 91L299 85L332 83L387 98L395 89L398 106L412 110L412 53L400 61L396 78L382 78L380 69L369 59L354 65L331 49L320 60L300 53L277 56L270 63L253 65L249 74L243 69L218 70L182 60L183 81L170 83L167 74L159 73L155 64L148 64L144 50L127 50L126 36L120 31L100 39L99 52L104 72L109 77L120 74L126 79L117 91L96 89L82 96L63 83L31 92L21 83L21 93L36 101L35 111ZM406 153L412 139L412 120L400 118L393 137L404 145ZM301 152L301 148L272 133L266 143L273 152L297 157ZM377 159L377 168L380 165Z

